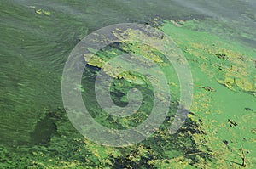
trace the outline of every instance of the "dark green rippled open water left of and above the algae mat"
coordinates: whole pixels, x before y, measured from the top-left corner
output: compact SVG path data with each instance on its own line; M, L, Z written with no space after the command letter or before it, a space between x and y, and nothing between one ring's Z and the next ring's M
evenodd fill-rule
M28 1L0 2L0 141L31 144L46 110L62 106L61 73L73 47L91 31L125 22L210 17L206 30L256 46L256 2ZM221 30L221 31L219 31ZM50 125L49 125L50 126Z

